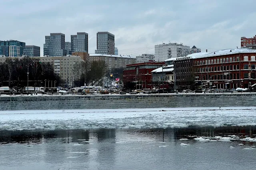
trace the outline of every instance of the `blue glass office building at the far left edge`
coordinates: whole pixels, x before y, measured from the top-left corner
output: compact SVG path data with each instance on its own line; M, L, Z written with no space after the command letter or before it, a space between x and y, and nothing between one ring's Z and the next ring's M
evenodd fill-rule
M26 43L10 40L10 41L0 41L0 55L5 55L6 57L20 57L23 55L23 50Z

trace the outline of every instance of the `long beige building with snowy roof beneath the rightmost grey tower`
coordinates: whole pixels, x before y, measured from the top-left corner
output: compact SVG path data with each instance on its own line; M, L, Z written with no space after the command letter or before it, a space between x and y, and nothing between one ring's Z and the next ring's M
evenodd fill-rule
M105 54L90 54L89 61L105 61L106 70L112 70L112 68L122 68L127 64L135 64L136 58L130 56L121 55L105 55Z

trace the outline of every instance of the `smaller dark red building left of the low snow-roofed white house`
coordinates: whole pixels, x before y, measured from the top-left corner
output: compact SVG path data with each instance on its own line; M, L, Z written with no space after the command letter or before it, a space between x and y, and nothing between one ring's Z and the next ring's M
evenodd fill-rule
M137 63L137 64L128 64L123 71L123 81L124 86L126 82L136 82L140 87L145 88L145 84L152 83L152 74L151 71L156 68L162 67L163 63ZM149 88L146 86L146 88Z

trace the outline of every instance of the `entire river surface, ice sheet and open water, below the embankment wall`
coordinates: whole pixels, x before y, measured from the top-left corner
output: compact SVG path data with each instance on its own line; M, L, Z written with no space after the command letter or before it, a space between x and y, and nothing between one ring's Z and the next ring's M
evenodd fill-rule
M0 111L0 170L255 169L256 107Z

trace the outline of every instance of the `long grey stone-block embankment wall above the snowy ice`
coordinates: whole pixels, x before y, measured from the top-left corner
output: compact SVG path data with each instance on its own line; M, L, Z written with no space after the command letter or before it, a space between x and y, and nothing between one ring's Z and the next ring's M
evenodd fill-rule
M256 106L256 94L0 96L0 110Z

